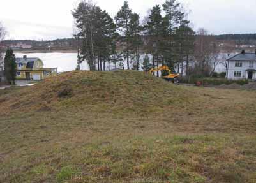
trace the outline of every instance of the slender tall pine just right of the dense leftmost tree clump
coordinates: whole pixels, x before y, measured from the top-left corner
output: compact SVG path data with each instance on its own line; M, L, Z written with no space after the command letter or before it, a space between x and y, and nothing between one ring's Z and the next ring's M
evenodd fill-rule
M127 62L127 68L128 70L130 69L130 21L132 18L132 10L130 10L128 1L124 1L123 6L121 7L121 10L118 11L115 20L116 20L116 25L117 29L121 33L121 36L119 37L119 41L124 44L124 57L126 58Z

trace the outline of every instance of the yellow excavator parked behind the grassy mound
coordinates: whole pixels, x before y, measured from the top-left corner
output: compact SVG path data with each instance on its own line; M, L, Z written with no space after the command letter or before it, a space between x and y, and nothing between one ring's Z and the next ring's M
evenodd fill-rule
M172 71L169 69L168 66L159 66L154 67L149 70L149 74L152 75L154 72L161 71L162 78L164 80L167 80L169 82L178 83L179 82L179 74L178 73L172 73Z

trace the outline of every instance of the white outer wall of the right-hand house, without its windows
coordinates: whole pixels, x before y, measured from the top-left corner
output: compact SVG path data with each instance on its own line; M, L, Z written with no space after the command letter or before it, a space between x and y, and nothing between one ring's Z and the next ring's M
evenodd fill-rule
M243 63L242 67L236 67L237 61L229 61L229 69L227 78L229 80L243 80L248 78L248 72L246 70L248 69L256 69L256 61L253 61L253 67L250 67L250 61L241 61ZM241 77L235 77L234 72L235 71L241 71L242 75ZM256 73L253 73L253 80L256 80Z

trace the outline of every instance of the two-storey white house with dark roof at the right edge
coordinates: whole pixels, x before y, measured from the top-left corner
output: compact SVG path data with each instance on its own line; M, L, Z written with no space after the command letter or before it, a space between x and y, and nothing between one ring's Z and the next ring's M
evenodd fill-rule
M256 81L256 50L255 53L240 54L227 59L227 79L229 80L253 80Z

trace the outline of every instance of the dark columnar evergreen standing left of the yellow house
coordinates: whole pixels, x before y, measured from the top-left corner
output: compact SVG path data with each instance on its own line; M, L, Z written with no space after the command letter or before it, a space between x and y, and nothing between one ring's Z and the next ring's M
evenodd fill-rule
M4 75L8 82L12 82L13 85L15 85L16 72L17 64L15 62L15 55L13 54L13 50L8 49L4 57Z

